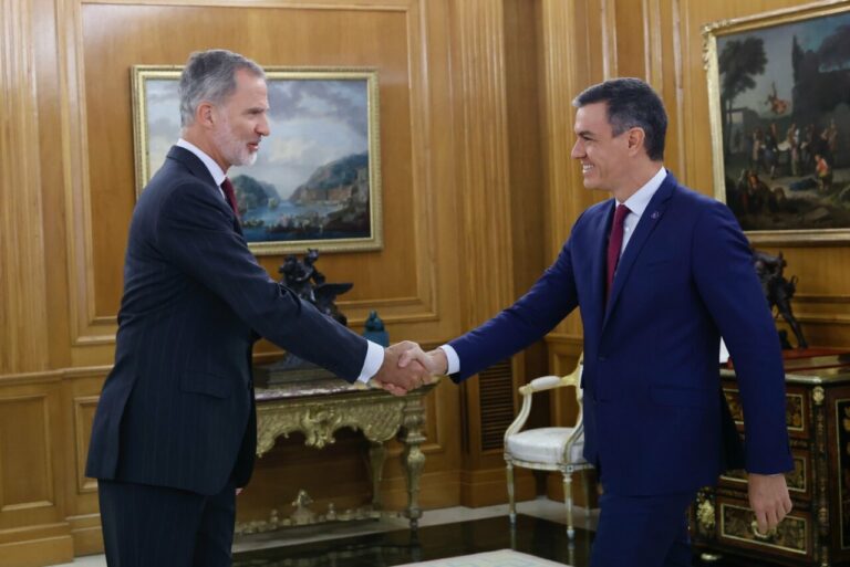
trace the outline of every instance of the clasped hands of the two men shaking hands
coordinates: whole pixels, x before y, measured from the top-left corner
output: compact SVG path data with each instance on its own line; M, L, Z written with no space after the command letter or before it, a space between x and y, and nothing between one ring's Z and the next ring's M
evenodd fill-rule
M403 340L384 349L384 364L371 384L395 396L431 384L432 377L446 374L448 360L442 348L425 353L412 340Z

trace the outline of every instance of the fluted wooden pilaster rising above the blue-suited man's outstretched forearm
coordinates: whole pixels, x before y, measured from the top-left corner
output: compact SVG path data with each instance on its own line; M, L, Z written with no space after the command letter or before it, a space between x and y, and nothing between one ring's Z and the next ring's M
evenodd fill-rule
M455 25L457 192L467 270L463 324L477 325L514 300L505 24L501 2L452 2Z

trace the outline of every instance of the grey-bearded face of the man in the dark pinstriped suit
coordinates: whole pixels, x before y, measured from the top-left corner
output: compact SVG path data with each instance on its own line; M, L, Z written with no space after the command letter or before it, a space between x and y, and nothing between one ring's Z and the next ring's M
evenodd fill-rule
M212 107L210 132L215 156L221 169L249 166L257 160L260 140L269 135L269 94L266 81L246 70L236 72L236 91Z

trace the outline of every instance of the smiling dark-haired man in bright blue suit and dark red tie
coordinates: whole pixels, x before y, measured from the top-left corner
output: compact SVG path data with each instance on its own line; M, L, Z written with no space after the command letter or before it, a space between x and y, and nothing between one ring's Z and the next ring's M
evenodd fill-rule
M727 464L721 336L740 387L759 529L791 510L779 342L735 218L664 169L667 117L652 88L618 78L573 104L572 157L584 187L613 199L579 217L558 260L512 306L439 349L412 349L401 364L418 359L460 381L579 307L584 456L604 487L591 566L686 566L687 506Z

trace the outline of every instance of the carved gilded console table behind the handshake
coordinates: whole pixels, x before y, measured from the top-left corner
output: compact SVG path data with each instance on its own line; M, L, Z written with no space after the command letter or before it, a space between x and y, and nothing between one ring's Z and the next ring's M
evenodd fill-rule
M397 437L404 443L402 464L407 476L407 508L403 516L411 528L418 526L419 477L425 454L419 445L425 441L425 395L434 384L423 386L406 396L393 396L377 388L357 388L339 379L294 382L291 386L257 388L257 455L262 456L280 437L294 431L304 434L304 444L321 449L333 443L333 434L342 428L363 432L370 441L372 473L372 505L369 511L351 511L317 515L299 506L296 517L237 525L237 533L265 532L288 525L303 525L323 521L360 519L385 515L382 511L380 484L386 455L384 442ZM297 502L309 498L299 494ZM294 503L293 503L294 504ZM299 513L302 513L298 516Z

